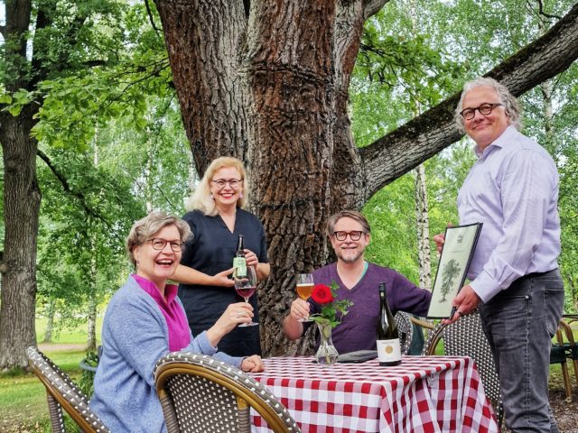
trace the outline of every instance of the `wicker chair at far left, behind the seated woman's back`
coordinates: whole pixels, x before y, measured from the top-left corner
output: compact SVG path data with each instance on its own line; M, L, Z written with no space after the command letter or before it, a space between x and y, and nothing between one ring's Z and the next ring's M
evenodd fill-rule
M70 377L61 371L36 347L26 350L28 363L46 388L52 431L65 432L62 408L86 433L110 433L110 430L89 408L89 399Z

